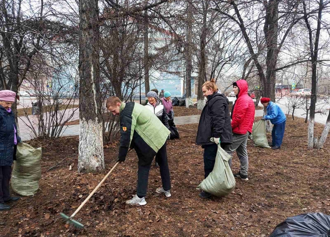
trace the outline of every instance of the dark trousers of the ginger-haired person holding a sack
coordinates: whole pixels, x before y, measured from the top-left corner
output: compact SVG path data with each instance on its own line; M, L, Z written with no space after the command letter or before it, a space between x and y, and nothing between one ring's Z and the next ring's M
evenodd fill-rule
M228 152L228 146L229 144L226 143L220 143L220 146L222 149L224 149L226 152ZM218 145L217 144L211 144L211 145L203 145L204 147L204 178L209 176L209 174L212 172L215 164L215 158L217 156L218 151Z

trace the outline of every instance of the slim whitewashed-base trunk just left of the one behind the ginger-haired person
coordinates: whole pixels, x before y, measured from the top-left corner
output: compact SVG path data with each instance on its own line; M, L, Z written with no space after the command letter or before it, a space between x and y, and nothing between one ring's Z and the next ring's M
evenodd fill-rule
M186 108L189 108L191 98L191 69L192 69L192 4L187 2L187 42L186 42Z

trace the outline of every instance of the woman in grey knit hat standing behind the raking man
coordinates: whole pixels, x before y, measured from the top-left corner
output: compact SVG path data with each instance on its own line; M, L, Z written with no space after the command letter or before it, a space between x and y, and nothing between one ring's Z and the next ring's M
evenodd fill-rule
M168 116L165 111L165 107L162 105L160 100L157 98L157 94L154 91L149 91L146 94L146 97L148 98L148 103L145 105L148 110L150 110L159 120L167 127L168 130L170 130L170 126L168 124ZM156 155L155 158L155 165L156 167L159 167L158 165L158 156Z

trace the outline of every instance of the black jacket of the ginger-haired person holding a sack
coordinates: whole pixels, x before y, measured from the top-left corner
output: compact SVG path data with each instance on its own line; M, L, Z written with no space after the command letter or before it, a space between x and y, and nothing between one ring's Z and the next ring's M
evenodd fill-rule
M207 96L206 105L199 119L196 144L214 144L210 141L211 137L220 137L221 143L233 143L229 100L225 95L217 92Z

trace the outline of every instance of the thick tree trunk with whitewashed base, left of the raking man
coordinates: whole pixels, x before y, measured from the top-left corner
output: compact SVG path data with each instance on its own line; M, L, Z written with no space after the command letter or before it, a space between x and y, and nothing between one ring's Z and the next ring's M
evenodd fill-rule
M104 169L99 79L98 0L80 0L78 171Z

